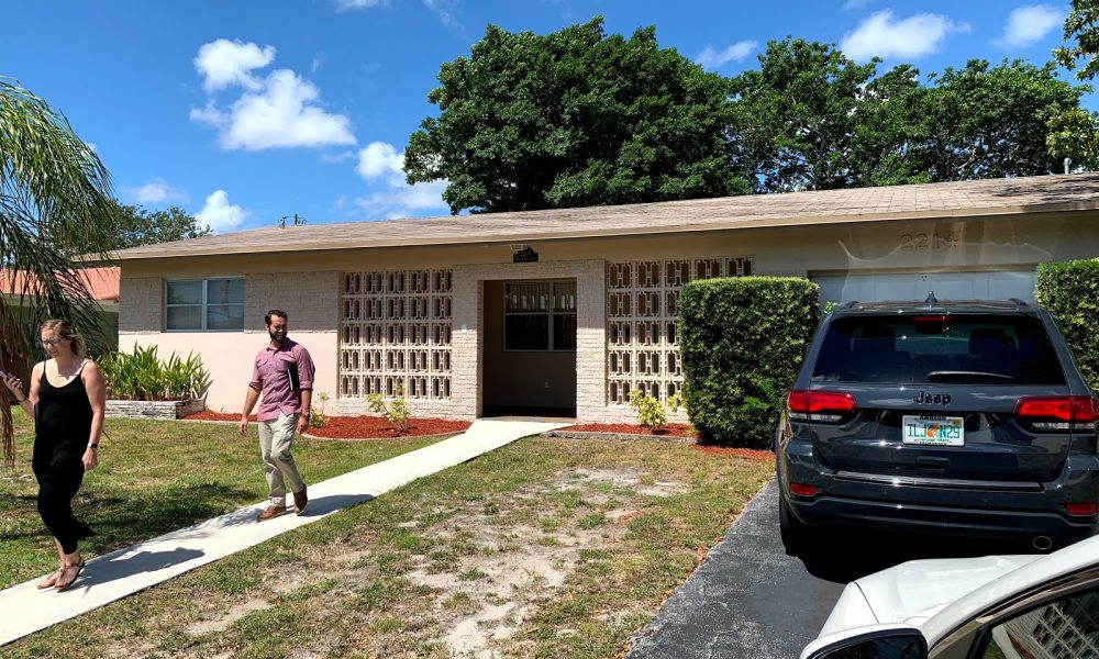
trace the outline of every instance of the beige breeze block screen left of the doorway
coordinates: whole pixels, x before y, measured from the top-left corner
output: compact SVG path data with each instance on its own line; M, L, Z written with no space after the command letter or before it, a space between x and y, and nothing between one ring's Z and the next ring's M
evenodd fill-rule
M344 272L340 396L451 398L451 270Z

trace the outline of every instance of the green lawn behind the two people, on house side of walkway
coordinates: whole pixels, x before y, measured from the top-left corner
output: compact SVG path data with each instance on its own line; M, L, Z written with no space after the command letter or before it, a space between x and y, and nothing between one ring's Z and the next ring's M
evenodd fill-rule
M18 409L14 473L0 473L0 588L57 568L54 543L35 507L31 472L33 424ZM80 544L88 556L106 554L182 528L267 495L259 439L252 424L108 420L99 467L73 502L98 535ZM439 440L334 442L295 439L293 455L307 483L386 460Z

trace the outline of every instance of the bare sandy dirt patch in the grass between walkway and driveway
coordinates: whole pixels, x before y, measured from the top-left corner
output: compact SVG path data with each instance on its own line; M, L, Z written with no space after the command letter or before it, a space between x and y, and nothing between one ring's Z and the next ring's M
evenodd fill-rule
M446 630L443 640L452 656L497 657L539 602L565 585L582 551L621 540L637 515L639 498L686 489L685 483L647 481L636 469L563 471L491 506L470 503L444 522L418 527L417 535L431 547L458 549L415 556L406 577L436 594L432 614ZM577 500L584 503L564 505ZM545 523L508 522L531 513Z

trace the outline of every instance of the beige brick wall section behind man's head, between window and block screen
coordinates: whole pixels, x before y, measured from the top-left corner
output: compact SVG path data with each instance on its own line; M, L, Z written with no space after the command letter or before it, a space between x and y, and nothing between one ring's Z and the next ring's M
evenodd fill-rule
M295 332L337 332L340 272L265 272L244 278L244 327L265 332L264 315L281 309ZM335 365L333 365L335 366Z

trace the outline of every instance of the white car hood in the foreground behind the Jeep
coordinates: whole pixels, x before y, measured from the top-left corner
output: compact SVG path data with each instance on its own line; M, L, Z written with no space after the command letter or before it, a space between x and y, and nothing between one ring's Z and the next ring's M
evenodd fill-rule
M879 623L914 627L947 604L1041 555L912 560L847 584L821 636Z

